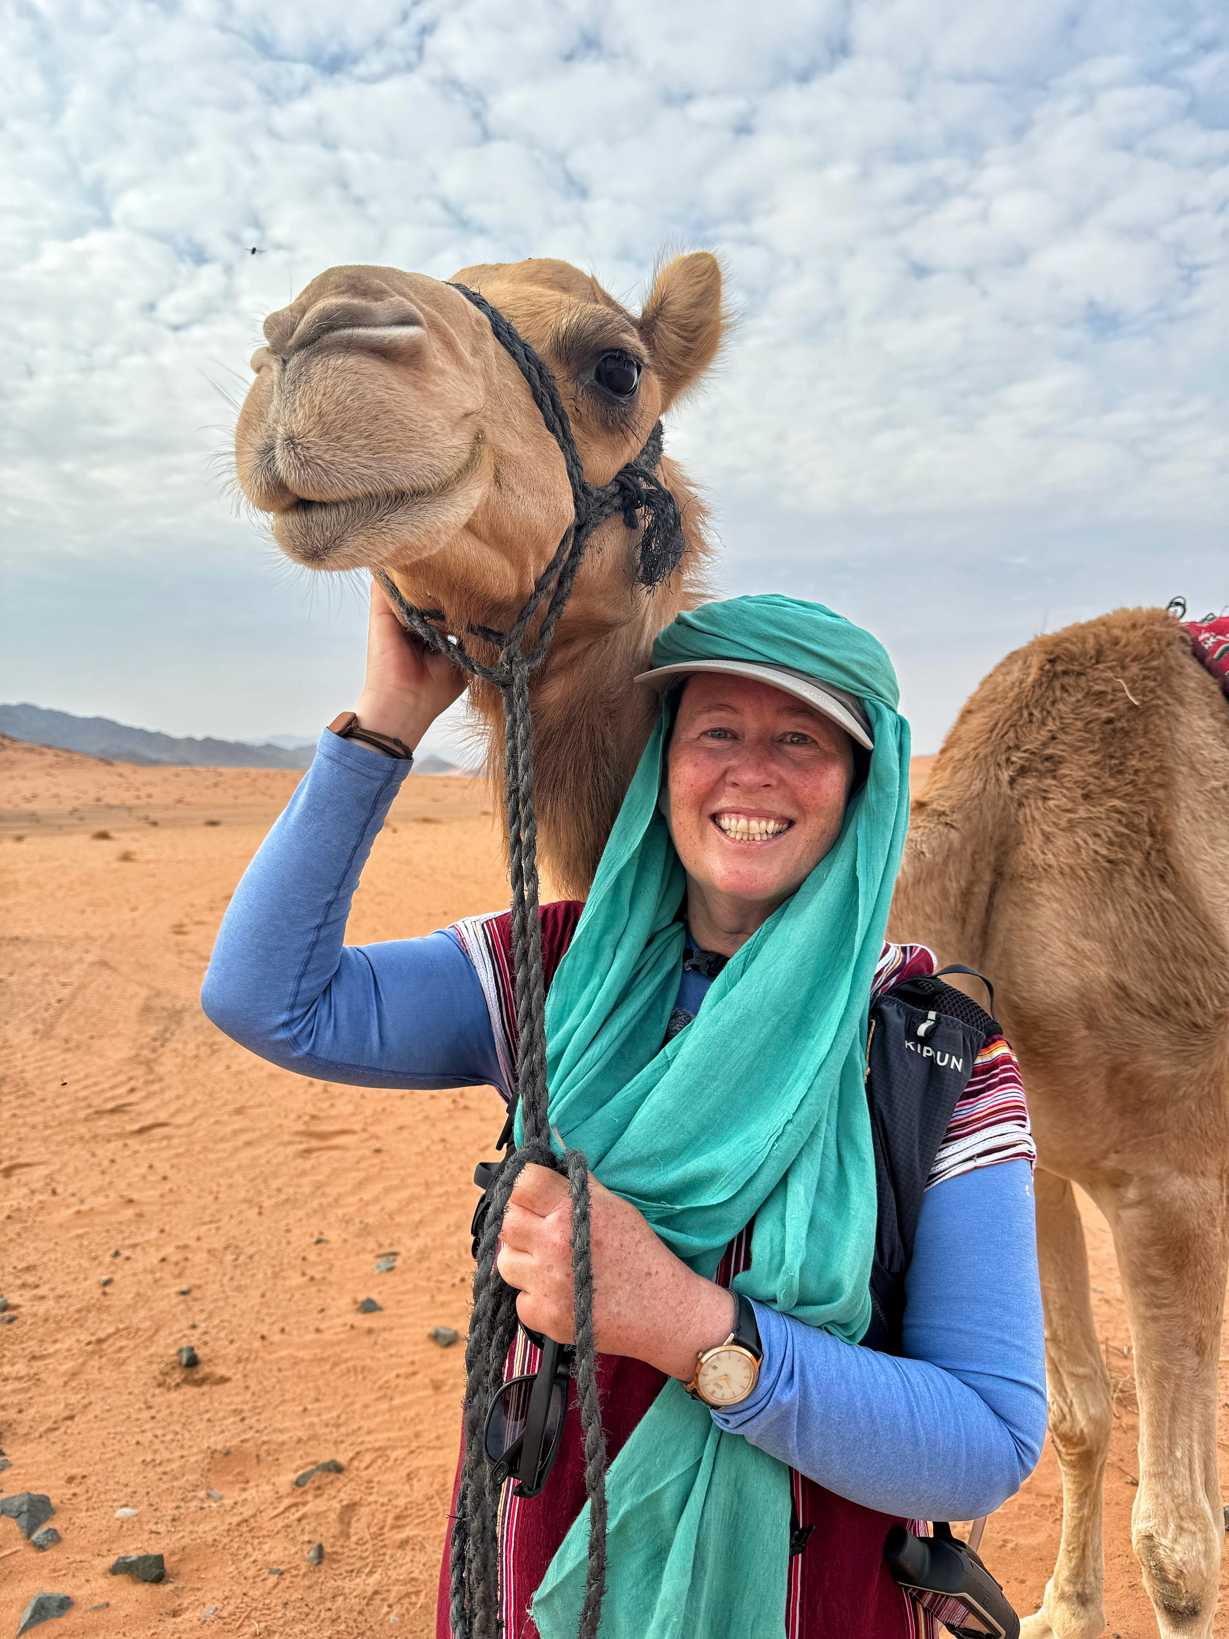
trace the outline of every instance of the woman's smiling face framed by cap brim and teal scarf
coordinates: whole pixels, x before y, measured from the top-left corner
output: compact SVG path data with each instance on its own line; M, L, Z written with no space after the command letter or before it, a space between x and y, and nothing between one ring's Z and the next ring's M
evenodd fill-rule
M842 728L769 683L696 674L678 701L664 810L693 938L726 956L841 834L854 780Z

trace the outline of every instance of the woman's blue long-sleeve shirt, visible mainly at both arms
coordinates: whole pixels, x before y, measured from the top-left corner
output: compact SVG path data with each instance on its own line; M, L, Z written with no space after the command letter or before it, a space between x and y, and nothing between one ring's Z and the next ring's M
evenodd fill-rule
M359 875L408 772L324 731L231 900L202 1003L228 1036L303 1075L498 1087L482 987L452 934L344 944ZM695 1013L706 980L680 977L680 1005ZM1027 1162L926 1192L903 1357L755 1311L759 1383L713 1416L819 1485L890 1514L972 1519L1032 1472L1045 1369Z

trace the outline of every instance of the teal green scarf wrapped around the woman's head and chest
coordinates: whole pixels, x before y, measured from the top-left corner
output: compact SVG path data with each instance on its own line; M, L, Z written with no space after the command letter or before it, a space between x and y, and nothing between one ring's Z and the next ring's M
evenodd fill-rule
M657 806L672 708L662 710L551 985L551 1121L705 1277L754 1218L754 1262L736 1290L857 1342L875 1241L867 1006L905 846L909 726L882 644L818 603L706 603L667 626L652 654L654 665L713 659L787 665L855 695L875 741L867 782L828 857L662 1047L685 890ZM780 1639L785 1464L719 1429L672 1380L606 1488L603 1634ZM542 1639L577 1631L587 1541L588 1506L534 1596Z

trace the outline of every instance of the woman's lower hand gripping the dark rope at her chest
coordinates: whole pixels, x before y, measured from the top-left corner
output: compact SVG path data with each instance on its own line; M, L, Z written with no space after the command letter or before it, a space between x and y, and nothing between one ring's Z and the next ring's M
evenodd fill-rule
M734 1296L687 1267L651 1224L590 1174L593 1329L603 1354L646 1360L688 1382L696 1355L726 1341ZM572 1342L572 1203L567 1178L529 1165L503 1214L498 1270L536 1333Z

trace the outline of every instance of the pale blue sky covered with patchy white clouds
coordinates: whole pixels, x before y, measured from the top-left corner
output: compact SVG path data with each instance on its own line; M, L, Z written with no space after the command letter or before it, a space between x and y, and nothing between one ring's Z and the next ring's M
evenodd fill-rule
M334 262L664 247L739 325L667 425L728 590L891 649L919 751L1011 647L1229 602L1222 0L13 0L0 698L313 734L362 603L236 508ZM256 246L262 254L252 256Z

